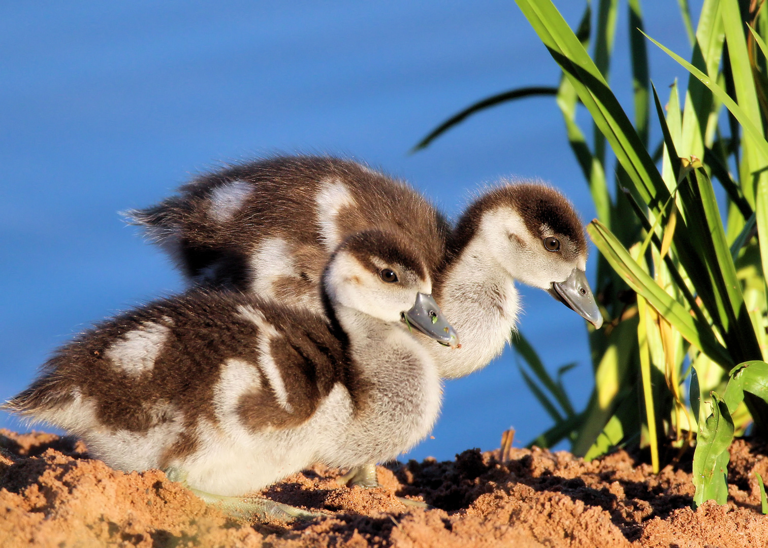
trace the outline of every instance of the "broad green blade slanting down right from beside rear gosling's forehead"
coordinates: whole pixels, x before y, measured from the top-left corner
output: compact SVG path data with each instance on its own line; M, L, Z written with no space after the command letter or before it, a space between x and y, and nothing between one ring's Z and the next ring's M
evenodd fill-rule
M664 319L667 319L680 332L680 335L683 335L688 342L700 348L702 352L724 368L733 367L733 360L730 358L729 352L717 341L710 325L692 317L683 305L680 305L664 289L661 289L654 279L648 276L637 265L637 262L634 262L630 253L616 239L616 236L611 234L597 220L589 223L587 231L594 244L598 246L600 252L603 253L619 276L627 282L627 285L634 289L638 295L644 297L660 315L664 316Z

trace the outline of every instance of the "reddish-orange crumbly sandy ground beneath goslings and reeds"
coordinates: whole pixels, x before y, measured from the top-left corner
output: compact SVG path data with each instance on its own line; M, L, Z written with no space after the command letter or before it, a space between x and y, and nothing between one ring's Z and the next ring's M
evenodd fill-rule
M690 461L655 476L624 451L591 463L465 451L379 467L383 487L369 491L339 487L340 471L318 466L263 492L329 513L284 526L229 520L158 470L124 474L89 459L79 441L0 430L0 546L766 546L755 477L768 477L766 450L737 441L728 504L697 511Z

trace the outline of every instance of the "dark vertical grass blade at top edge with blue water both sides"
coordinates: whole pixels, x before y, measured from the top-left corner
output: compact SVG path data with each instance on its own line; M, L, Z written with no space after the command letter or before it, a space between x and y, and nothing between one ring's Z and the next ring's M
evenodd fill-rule
M683 0L684 1L684 0ZM689 17L690 20L690 17ZM640 0L629 0L629 48L632 62L632 90L634 91L634 127L637 136L648 146L648 117L650 94L648 84L648 51L643 38L643 12ZM691 29L693 33L693 29Z

